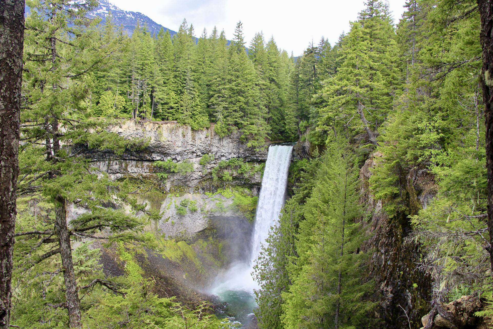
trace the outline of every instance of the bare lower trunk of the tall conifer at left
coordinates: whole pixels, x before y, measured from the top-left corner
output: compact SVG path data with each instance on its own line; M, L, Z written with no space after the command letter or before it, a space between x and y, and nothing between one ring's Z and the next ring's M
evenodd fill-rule
M79 294L72 263L72 249L70 247L70 233L67 226L66 203L63 197L58 197L55 204L55 224L58 232L60 256L65 279L66 306L69 311L70 328L81 328Z

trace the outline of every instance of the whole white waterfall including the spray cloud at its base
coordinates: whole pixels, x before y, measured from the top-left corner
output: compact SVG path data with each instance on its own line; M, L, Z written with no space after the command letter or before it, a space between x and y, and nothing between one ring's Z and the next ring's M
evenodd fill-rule
M258 289L251 277L254 261L260 254L261 244L269 236L269 229L279 218L285 200L287 176L293 146L273 145L269 147L262 186L255 217L255 228L251 238L251 256L248 262L235 263L218 278L220 281L212 290L216 295L231 291L244 291L250 294Z

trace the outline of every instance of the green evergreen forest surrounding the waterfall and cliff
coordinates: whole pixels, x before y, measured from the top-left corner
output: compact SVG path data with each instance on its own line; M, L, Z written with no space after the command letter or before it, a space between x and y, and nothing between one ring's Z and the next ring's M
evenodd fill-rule
M246 40L242 22L231 42L186 19L173 37L139 23L128 36L110 12L104 23L89 18L97 0L26 5L11 327L241 328L207 296L164 293L168 283L146 274L157 250L202 265L197 240L149 229L172 202L140 195L198 193L170 183L198 172L212 182L200 190L215 198L211 212L233 198L228 209L251 222L261 161L211 152L200 163L149 160L152 183L139 171L110 175L111 161L140 161L169 142L125 137L125 122L173 122L191 140L238 138L251 154L273 143L305 149L254 265L258 327L243 328L492 328L476 0L408 0L396 21L386 1L367 0L335 44L322 37L303 54L261 32ZM180 200L176 218L206 213ZM212 240L203 249L220 255ZM102 250L119 270L103 270Z

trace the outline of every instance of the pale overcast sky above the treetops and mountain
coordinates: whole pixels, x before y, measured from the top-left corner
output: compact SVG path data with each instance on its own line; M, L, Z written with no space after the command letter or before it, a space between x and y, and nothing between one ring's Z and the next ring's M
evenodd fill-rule
M178 31L183 18L193 24L195 36L204 27L208 34L217 26L228 39L238 21L243 23L246 46L256 32L266 41L274 37L279 48L294 56L322 36L333 44L339 35L349 31L349 22L364 8L364 0L109 0L123 10L139 11L156 23ZM405 0L388 0L395 23L404 12Z

